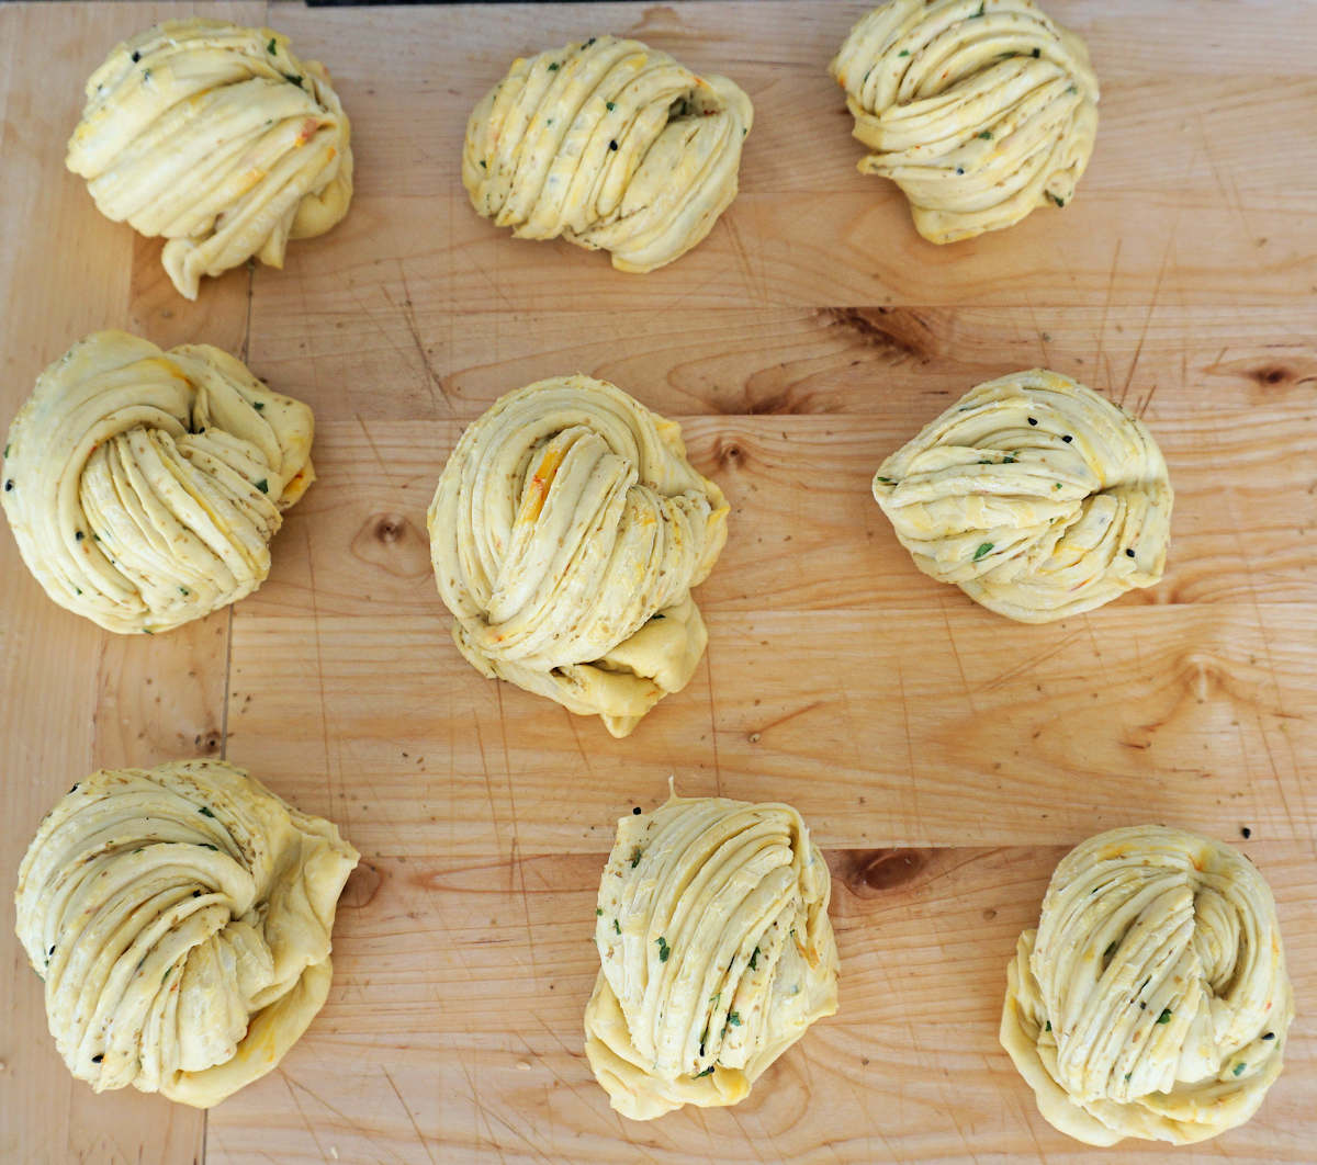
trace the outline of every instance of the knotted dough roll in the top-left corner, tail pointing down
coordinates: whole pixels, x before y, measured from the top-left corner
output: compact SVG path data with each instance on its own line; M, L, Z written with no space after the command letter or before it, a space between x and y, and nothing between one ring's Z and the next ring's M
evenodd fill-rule
M169 240L165 270L196 299L203 275L282 267L290 238L348 213L349 134L329 74L286 37L169 20L91 75L67 165L107 219Z

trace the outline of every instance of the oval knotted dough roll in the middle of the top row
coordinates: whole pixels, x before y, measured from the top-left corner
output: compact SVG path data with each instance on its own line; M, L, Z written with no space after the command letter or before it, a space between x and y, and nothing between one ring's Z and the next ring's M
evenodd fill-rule
M736 196L755 113L724 76L615 37L518 58L471 112L462 184L519 238L612 253L652 271L712 229Z

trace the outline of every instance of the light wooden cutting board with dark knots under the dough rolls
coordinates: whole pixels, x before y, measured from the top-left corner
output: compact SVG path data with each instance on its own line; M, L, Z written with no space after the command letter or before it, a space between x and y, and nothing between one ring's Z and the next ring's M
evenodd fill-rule
M257 595L158 638L57 608L0 534L0 887L72 781L192 754L333 817L363 861L324 1012L208 1118L68 1077L7 915L0 1160L1164 1161L1054 1132L997 1045L1055 861L1147 820L1262 866L1299 998L1259 1116L1176 1165L1313 1160L1317 5L1048 0L1102 82L1092 167L1065 211L946 249L855 171L827 62L864 3L202 7L332 68L352 212L186 303L63 153L105 51L191 5L0 7L3 421L92 329L208 341L313 405L320 480ZM514 241L458 182L507 63L602 30L756 107L740 197L647 276ZM919 575L868 490L950 400L1034 365L1141 412L1177 495L1159 587L1038 628ZM626 741L478 678L428 565L462 427L576 370L681 417L734 505L707 657ZM842 1011L740 1107L630 1124L581 1050L590 907L614 821L669 774L805 814Z

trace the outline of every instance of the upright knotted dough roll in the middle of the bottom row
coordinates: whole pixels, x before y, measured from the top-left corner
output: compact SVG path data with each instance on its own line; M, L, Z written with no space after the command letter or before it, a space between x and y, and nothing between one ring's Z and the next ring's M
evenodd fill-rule
M785 804L678 798L618 821L586 1056L632 1120L735 1104L836 1011L827 864Z

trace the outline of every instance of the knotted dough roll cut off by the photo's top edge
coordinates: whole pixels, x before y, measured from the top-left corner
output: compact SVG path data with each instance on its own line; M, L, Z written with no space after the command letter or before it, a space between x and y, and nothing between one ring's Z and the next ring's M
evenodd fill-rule
M1030 0L892 0L831 65L873 153L931 242L1064 207L1097 134L1088 49Z

